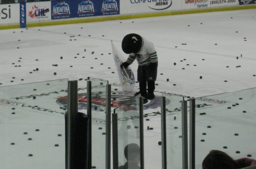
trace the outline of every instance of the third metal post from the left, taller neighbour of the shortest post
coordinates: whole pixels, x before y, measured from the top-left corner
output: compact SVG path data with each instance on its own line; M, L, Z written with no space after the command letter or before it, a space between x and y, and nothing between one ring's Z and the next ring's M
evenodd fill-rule
M106 169L111 166L111 85L106 85Z

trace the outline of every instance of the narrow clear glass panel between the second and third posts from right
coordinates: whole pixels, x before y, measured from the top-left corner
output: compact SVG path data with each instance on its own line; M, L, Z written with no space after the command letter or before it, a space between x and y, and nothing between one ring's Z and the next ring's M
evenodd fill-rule
M167 168L182 169L182 96L163 94L166 99Z

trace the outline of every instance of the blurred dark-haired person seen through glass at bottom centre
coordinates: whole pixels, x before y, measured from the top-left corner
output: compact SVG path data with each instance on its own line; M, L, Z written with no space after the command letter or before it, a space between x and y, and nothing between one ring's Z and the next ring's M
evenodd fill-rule
M135 143L131 143L124 148L124 157L127 162L118 167L118 169L140 169L140 146Z

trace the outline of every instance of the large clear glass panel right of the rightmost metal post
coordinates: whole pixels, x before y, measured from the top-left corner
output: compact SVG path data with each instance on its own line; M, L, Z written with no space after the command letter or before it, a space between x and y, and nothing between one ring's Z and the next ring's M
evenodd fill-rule
M211 150L256 157L256 88L196 98L196 168Z

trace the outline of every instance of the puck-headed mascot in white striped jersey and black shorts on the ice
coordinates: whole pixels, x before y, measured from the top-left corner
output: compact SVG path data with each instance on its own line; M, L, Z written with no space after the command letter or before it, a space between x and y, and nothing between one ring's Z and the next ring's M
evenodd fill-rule
M138 34L131 33L123 38L122 49L124 53L129 54L129 57L121 64L121 68L128 67L135 59L139 64L137 79L139 81L140 91L135 96L141 94L145 99L154 99L158 61L153 43Z

